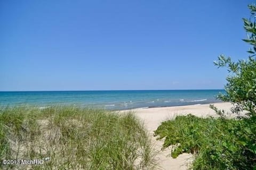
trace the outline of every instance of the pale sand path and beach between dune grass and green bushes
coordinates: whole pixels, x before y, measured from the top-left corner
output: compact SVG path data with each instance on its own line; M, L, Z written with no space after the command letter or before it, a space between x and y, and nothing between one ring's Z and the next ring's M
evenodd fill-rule
M215 103L214 106L219 109L224 109L230 113L230 103ZM173 159L170 156L171 148L161 150L163 140L159 141L153 137L154 130L167 119L174 118L177 115L193 114L196 116L217 116L215 112L209 108L209 104L205 105L190 105L190 106L177 106L177 107L160 107L160 108L147 108L147 109L134 109L135 114L141 118L145 123L149 134L155 144L157 151L156 160L160 166L158 169L187 169L188 164L193 160L193 155L182 154L178 158Z

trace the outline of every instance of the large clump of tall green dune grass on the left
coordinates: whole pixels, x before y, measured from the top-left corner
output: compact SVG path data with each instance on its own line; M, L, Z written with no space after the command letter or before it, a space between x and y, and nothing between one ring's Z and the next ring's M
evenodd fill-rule
M153 149L133 113L78 107L2 108L0 159L43 159L2 169L154 169Z

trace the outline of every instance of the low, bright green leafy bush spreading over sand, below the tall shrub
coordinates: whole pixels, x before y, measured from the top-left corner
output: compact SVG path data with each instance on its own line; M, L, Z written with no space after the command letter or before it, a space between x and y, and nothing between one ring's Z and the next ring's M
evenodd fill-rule
M173 158L185 152L194 154L193 169L253 169L256 125L250 121L255 120L189 114L163 122L155 135L165 137L163 148L174 146Z

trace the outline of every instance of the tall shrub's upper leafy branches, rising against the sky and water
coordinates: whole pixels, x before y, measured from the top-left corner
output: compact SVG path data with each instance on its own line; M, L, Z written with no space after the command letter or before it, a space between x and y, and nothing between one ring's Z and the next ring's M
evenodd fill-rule
M248 60L233 62L230 57L220 55L214 64L218 67L227 67L230 72L225 86L226 94L220 94L218 98L231 102L234 113L247 111L247 114L251 116L256 115L256 6L249 5L249 8L251 18L249 20L244 18L243 21L247 32L247 39L244 41L253 46L247 51L251 56Z

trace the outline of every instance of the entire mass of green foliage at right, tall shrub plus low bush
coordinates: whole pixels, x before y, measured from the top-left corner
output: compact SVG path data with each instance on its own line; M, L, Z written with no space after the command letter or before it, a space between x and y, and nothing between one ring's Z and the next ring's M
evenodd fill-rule
M234 62L220 55L214 64L227 67L230 73L222 101L233 104L236 118L210 105L219 118L177 116L163 122L155 131L158 139L165 138L163 148L175 146L172 157L188 152L195 155L193 169L256 169L256 6L249 5L251 18L243 19L246 43L253 46L247 60ZM246 115L244 115L246 112Z

